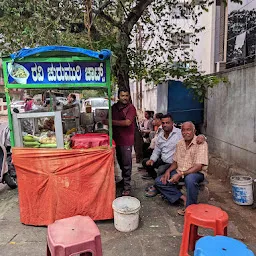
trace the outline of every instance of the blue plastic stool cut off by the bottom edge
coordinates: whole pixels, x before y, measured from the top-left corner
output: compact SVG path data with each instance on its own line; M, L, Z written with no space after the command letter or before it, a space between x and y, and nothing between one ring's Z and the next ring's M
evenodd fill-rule
M254 256L254 253L236 239L205 236L197 241L194 256Z

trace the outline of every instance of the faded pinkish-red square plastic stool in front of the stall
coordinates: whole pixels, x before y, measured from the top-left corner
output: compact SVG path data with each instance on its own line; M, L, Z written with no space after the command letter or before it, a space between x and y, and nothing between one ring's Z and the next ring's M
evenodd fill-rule
M88 216L55 221L47 230L47 256L69 256L91 252L102 256L100 231Z

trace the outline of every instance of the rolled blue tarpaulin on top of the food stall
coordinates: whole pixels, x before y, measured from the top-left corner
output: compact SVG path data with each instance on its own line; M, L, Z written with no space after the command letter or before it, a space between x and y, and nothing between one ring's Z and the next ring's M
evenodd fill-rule
M40 46L36 48L24 48L21 49L18 52L15 52L10 55L10 57L15 61L18 59L23 59L26 57L30 56L60 56L67 54L70 56L71 54L73 56L87 56L87 57L92 57L96 58L99 60L106 60L109 59L111 56L111 51L107 49L103 49L100 52L92 51L92 50L87 50L79 47L71 47L71 46Z

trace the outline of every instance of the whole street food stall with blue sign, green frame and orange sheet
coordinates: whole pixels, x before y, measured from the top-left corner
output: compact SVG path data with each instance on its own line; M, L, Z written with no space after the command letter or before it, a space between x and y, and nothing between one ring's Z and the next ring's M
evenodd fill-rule
M48 225L74 215L88 215L94 220L113 218L110 55L109 50L45 46L22 49L3 58L22 223ZM86 88L107 91L108 134L86 129L93 118L90 113L77 112L79 104L62 109L50 98L47 108L24 113L10 108L11 89Z

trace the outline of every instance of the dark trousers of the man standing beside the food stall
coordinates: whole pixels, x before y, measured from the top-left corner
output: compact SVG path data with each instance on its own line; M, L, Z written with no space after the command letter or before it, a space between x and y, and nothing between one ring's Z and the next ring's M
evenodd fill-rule
M132 146L116 146L116 157L122 170L124 190L131 189Z

